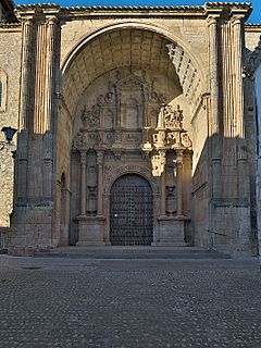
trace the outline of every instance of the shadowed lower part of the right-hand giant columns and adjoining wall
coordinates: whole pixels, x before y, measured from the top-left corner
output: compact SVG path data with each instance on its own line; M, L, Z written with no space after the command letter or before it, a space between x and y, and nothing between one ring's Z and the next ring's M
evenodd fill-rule
M187 238L195 246L256 254L256 177L249 175L249 161L243 146L246 140L222 137L219 141L221 158L211 156L216 144L214 135L206 140L194 169L192 232Z

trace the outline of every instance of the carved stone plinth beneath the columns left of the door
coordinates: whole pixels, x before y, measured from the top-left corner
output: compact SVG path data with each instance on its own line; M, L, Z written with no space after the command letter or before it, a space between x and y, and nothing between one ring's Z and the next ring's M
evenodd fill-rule
M105 217L78 216L78 241L77 246L104 246L103 225Z

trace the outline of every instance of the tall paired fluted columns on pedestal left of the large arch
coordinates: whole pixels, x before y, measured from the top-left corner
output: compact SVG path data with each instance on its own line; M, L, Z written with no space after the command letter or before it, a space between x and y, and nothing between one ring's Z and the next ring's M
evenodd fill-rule
M11 220L11 253L54 247L55 236L55 75L60 71L60 9L17 10L23 23L17 198ZM59 92L58 89L55 91ZM26 149L23 147L26 146Z

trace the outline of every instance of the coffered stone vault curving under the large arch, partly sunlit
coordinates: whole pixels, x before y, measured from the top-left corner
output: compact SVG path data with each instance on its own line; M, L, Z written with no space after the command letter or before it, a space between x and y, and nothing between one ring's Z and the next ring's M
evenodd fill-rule
M91 82L121 67L157 71L182 86L191 109L202 94L202 75L197 60L158 27L137 23L103 28L84 38L65 59L62 97L71 115L78 98Z

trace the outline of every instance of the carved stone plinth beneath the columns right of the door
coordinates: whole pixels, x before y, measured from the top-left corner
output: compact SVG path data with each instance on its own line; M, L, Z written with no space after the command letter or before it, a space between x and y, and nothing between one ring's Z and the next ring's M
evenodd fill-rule
M159 221L159 239L153 246L162 247L184 247L184 225L187 219L185 216L160 216Z

